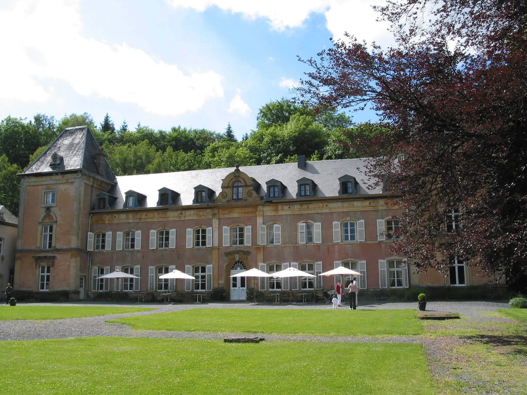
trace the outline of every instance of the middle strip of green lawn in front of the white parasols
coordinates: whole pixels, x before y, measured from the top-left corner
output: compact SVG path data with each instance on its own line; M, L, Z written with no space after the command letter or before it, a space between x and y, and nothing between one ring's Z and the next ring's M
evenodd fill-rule
M284 334L418 334L415 310L191 309L111 320L139 330Z

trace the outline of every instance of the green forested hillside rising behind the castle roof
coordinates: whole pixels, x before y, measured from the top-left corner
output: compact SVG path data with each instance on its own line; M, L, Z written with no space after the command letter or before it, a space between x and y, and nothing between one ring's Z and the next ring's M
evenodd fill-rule
M238 141L230 124L225 132L174 126L170 131L123 122L116 128L106 114L96 125L90 114L71 114L56 121L36 114L32 120L8 116L0 122L0 204L18 212L20 183L16 175L34 162L66 127L87 125L104 148L116 175L161 173L342 159L374 154L367 142L388 129L380 124L354 124L345 113L306 107L282 99L258 112L255 130Z

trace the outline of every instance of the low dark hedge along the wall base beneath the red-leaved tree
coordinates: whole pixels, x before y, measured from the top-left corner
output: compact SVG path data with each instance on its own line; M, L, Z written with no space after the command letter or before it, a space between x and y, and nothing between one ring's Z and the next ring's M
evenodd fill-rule
M383 291L359 291L359 300L416 301L419 293L426 293L427 301L431 300L507 300L515 293L507 287L430 287L408 288Z

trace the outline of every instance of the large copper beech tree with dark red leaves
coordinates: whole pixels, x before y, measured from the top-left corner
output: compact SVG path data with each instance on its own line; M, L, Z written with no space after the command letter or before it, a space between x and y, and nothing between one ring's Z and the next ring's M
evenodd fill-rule
M527 2L406 0L378 11L396 45L335 42L303 61L312 71L300 100L371 106L389 125L369 142L382 153L369 176L406 209L394 253L445 275L462 256L525 290Z

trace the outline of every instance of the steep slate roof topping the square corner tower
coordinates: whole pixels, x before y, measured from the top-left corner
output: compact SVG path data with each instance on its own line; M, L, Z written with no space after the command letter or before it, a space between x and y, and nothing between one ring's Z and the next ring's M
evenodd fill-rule
M95 163L95 154L98 149L99 145L89 127L69 127L64 129L55 141L47 147L47 150L22 174L30 175L69 170L87 170L94 174L101 174ZM57 164L52 165L54 153L60 156L60 161L56 161ZM115 181L115 175L106 160L104 160L103 176L110 181Z

